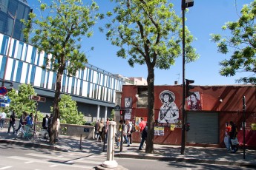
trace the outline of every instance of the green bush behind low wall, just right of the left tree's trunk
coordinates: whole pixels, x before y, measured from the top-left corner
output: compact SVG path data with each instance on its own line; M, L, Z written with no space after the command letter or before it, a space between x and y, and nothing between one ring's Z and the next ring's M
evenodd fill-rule
M53 107L50 107L51 111ZM59 101L59 114L61 123L85 124L84 115L78 112L76 101L73 101L70 95L62 95Z

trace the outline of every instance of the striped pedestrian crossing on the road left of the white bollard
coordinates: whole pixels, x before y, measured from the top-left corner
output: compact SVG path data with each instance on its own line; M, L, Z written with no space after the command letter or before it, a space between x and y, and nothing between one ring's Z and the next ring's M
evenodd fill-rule
M22 169L21 167L30 167L34 170L45 169L93 169L102 164L106 157L104 154L83 154L83 153L27 153L21 156L9 156L13 165L2 165L1 169ZM19 166L19 167L17 167Z

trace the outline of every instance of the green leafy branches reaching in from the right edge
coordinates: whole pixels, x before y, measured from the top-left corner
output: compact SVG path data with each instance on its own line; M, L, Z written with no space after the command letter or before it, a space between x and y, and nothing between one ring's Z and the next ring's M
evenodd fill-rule
M217 43L218 52L228 54L231 58L220 62L220 75L234 76L237 72L249 72L252 75L236 80L238 83L256 84L256 1L246 4L240 11L237 21L229 21L222 27L229 30L228 36L211 34L211 41Z

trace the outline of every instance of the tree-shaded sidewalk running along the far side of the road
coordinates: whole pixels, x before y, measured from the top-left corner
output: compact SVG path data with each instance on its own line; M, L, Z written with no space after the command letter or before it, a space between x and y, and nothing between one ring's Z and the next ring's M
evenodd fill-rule
M43 142L31 143L26 139L13 140L13 137L14 135L7 135L7 129L0 129L0 143L10 143L26 147L40 147L62 152L90 152L94 154L106 154L107 151L107 145L105 145L105 152L103 152L103 143L84 138L81 140L80 137L60 135L59 141L54 145ZM246 150L245 159L243 159L242 148L235 154L227 152L226 149L194 146L186 146L185 154L180 154L180 146L158 144L154 144L154 154L146 154L145 149L139 151L138 148L139 143L132 143L130 147L124 145L122 152L120 152L119 149L115 150L115 157L256 167L255 150Z

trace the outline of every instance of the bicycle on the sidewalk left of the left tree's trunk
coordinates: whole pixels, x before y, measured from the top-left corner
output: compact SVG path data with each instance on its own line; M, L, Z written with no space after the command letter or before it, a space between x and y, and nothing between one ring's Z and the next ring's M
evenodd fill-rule
M19 131L16 132L14 140L16 140L18 137L27 138L27 140L30 140L32 142L37 140L36 131L34 131L30 126L24 126L24 125L22 125Z

